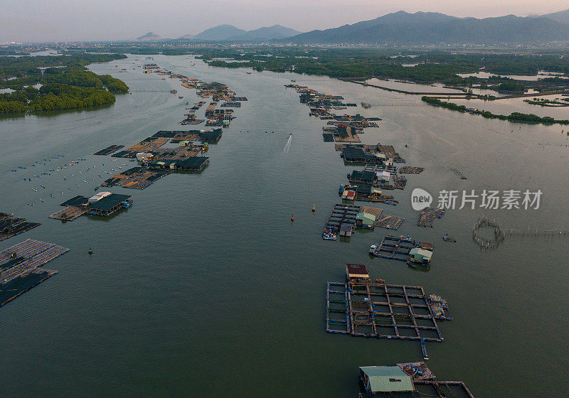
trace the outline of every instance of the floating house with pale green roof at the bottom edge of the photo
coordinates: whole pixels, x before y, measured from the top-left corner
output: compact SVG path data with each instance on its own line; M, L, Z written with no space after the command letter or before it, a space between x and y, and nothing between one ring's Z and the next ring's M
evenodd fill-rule
M360 367L360 379L368 394L409 393L404 396L415 396L411 377L398 366Z

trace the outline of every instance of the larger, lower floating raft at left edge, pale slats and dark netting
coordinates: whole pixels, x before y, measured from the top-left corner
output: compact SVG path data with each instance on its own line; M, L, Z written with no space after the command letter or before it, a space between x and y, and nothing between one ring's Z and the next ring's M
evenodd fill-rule
M25 240L0 252L0 306L41 284L58 271L40 268L69 249L39 240Z

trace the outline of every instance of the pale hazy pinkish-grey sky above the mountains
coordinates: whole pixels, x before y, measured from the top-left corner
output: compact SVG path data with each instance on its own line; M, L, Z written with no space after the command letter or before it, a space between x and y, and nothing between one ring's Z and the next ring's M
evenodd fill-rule
M177 38L222 23L309 31L399 10L484 18L568 8L568 0L0 0L0 42Z

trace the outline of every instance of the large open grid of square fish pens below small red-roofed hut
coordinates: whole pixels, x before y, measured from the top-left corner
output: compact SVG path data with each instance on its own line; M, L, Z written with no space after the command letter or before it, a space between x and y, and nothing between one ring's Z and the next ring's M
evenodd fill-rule
M385 284L383 279L329 282L326 331L418 342L443 340L423 288Z

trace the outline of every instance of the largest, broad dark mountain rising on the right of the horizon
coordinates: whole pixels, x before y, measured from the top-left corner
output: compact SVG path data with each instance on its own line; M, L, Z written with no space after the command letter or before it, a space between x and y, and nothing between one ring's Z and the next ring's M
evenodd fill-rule
M569 41L569 25L544 16L457 18L438 13L398 11L370 21L310 31L282 42L297 44L539 44Z

